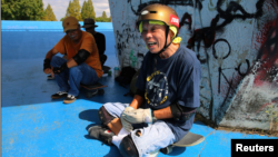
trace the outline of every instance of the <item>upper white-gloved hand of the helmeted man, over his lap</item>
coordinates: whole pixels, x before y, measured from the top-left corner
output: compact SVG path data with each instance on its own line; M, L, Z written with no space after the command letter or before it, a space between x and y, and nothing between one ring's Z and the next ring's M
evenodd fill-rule
M151 109L135 109L122 114L122 119L131 122L131 124L152 124Z

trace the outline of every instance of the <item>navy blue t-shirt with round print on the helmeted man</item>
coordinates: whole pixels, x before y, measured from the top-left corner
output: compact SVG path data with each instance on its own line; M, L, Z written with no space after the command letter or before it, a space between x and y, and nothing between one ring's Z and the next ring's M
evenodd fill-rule
M153 71L155 57L157 70ZM201 80L201 65L196 53L180 46L169 58L161 59L148 52L137 80L137 88L145 91L142 108L152 110L166 108L173 102L183 107L198 108L200 106L199 88ZM171 128L177 141L180 140L192 127L193 117L186 122L165 119Z

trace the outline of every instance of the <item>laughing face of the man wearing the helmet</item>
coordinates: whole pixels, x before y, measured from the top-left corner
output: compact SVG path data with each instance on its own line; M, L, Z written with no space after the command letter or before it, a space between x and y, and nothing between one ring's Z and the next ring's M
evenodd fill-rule
M142 23L142 39L151 53L159 52L165 47L166 26Z

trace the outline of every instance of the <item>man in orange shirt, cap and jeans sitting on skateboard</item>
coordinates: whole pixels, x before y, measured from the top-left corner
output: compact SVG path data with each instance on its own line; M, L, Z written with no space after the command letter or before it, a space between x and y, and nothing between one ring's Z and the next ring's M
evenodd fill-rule
M62 27L66 36L48 51L43 71L47 75L53 71L59 86L59 91L51 98L67 97L63 102L70 104L77 99L80 84L93 85L103 72L92 35L81 31L78 20L73 17L66 18ZM69 60L56 56L58 52L67 53Z

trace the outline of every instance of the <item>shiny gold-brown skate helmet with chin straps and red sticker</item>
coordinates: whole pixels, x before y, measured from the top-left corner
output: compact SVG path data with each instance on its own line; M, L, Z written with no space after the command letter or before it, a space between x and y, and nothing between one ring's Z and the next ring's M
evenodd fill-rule
M155 24L161 24L161 22L159 21L162 21L166 24L165 47L157 53L158 56L161 52L163 52L172 43L172 41L175 41L173 43L180 43L181 38L179 37L178 39L176 39L177 30L179 29L179 17L172 8L165 6L165 4L159 4L159 3L149 4L142 9L137 20L137 27L139 31L142 30L141 29L142 21L149 21L150 23L155 23ZM167 45L167 37L168 37L169 30L172 30L173 33L175 32L176 33L172 37L170 43Z

